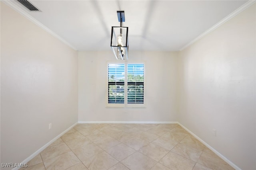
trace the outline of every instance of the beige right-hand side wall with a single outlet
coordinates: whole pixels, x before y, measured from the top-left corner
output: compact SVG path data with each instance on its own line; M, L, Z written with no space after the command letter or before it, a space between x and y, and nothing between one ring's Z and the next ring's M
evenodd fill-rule
M179 57L179 122L239 168L256 169L256 4Z

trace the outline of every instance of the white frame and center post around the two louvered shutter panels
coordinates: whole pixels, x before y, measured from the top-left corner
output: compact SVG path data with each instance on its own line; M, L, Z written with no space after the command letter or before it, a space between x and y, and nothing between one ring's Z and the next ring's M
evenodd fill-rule
M124 103L108 103L108 64L124 64ZM143 103L128 103L128 64L144 64ZM146 107L146 61L106 61L106 107Z

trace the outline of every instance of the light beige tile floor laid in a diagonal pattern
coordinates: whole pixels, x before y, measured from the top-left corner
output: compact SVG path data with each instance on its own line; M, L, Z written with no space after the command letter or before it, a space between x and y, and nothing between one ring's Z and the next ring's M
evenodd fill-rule
M177 124L78 124L26 170L234 170Z

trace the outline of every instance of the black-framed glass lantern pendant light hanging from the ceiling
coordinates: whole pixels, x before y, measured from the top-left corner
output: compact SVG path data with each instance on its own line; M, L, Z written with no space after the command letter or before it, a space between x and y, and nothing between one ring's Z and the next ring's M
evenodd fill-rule
M122 22L125 21L124 11L117 11L120 27L112 27L110 47L116 59L128 60L128 27L123 27Z

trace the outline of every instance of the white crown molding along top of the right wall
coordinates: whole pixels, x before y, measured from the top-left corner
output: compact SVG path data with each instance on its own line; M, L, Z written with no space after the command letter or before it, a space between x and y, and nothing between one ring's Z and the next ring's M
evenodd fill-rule
M201 39L202 37L204 37L208 33L212 32L214 29L218 28L220 25L224 24L226 21L230 20L231 18L233 18L234 16L236 16L237 14L239 14L240 12L242 12L243 10L245 10L246 8L248 8L249 6L254 4L255 2L256 2L256 0L249 0L244 5L240 6L238 9L236 9L234 12L232 12L230 15L226 16L224 19L222 19L221 21L219 21L218 23L213 25L210 29L206 30L204 33L202 33L201 35L199 35L198 37L196 37L195 39L190 41L188 44L186 44L184 47L182 47L179 51L182 51L186 47L192 45L193 43L195 43L196 41L198 41L199 39Z

